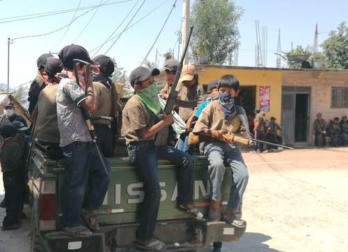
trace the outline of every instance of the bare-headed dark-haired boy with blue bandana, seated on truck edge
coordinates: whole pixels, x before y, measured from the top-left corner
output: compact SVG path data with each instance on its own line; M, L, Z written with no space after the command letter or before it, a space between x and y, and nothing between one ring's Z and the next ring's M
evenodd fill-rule
M248 126L245 125L246 118L245 120L242 118L246 117L244 109L235 106L235 96L239 94L237 78L232 75L223 76L219 81L218 89L219 100L212 101L203 110L193 128L193 133L206 137L205 142L200 142L200 151L209 161L208 174L212 184L212 205L209 208L209 217L214 221L223 219L232 223L248 183L248 169L237 144L229 142L223 135L241 133ZM221 216L221 185L226 172L225 165L232 169L234 183L231 185L227 209Z

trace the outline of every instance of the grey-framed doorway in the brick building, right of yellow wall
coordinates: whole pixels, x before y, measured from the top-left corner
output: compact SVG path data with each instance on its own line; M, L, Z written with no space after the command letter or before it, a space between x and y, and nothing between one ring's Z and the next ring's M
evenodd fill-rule
M310 87L283 86L282 137L287 145L308 143Z

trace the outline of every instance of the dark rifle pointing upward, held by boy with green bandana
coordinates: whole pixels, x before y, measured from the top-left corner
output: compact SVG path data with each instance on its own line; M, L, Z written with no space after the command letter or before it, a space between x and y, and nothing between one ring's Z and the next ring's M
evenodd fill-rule
M195 108L197 106L197 101L182 101L177 99L177 90L176 90L177 83L179 82L179 79L181 76L182 67L184 65L184 58L185 58L187 49L189 47L192 31L193 31L193 26L190 27L189 37L187 38L187 43L182 53L182 57L180 59L179 65L177 66L177 72L175 74L173 84L171 85L171 92L169 92L166 106L164 106L164 113L166 115L170 114L175 106L179 106L182 108Z

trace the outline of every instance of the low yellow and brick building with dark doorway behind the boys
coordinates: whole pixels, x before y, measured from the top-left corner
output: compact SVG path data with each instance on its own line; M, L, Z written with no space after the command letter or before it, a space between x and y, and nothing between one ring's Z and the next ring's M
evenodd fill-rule
M199 65L197 69L201 85L225 74L236 76L241 85L237 102L251 117L255 108L262 107L267 119L276 117L287 145L314 143L313 121L318 112L327 124L333 117L348 115L347 70L213 65Z

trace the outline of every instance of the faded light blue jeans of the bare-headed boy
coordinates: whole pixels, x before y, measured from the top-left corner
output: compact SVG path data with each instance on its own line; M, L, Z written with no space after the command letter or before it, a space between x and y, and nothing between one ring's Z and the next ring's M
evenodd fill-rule
M200 148L209 161L208 175L212 185L212 199L221 200L221 185L225 176L226 167L232 169L233 183L230 187L228 208L237 212L248 184L248 169L235 144L226 144L219 141L209 141L200 144Z

